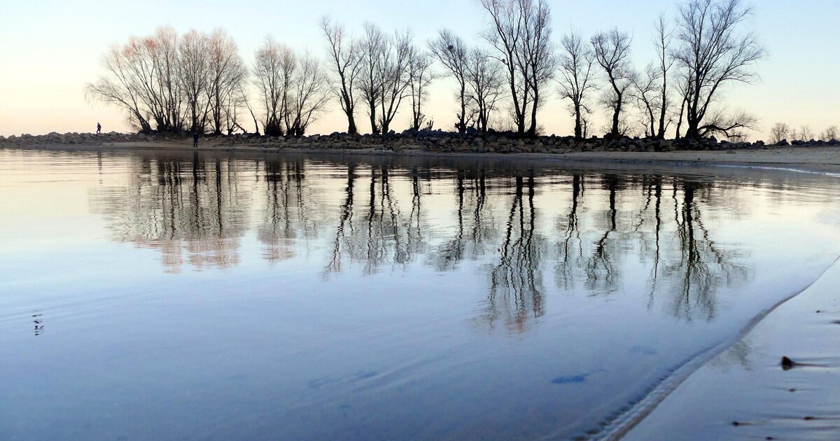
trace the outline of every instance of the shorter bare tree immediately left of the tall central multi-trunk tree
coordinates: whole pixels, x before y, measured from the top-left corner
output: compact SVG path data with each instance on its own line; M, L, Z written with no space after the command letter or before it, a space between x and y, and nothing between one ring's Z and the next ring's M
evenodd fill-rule
M504 74L495 60L480 50L470 51L467 59L465 80L470 87L467 99L470 102L470 118L476 129L485 133L489 128L491 114L496 112L496 103L501 99L505 87Z

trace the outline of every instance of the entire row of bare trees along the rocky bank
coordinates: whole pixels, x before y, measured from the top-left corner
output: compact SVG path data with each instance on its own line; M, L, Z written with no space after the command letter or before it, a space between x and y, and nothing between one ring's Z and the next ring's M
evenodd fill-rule
M592 131L596 104L608 112L612 136L664 138L674 130L677 138L733 137L754 126L752 115L722 104L728 85L753 81L764 56L753 34L741 31L751 13L742 0L685 0L675 18L660 15L656 58L643 71L634 68L633 38L621 29L589 39L573 30L555 45L547 0L480 0L480 7L487 18L481 45L440 29L421 47L409 30L388 33L369 23L354 36L325 17L324 66L268 38L248 69L222 30L179 37L158 29L113 47L103 61L107 74L87 93L124 108L144 131L246 131L239 113L247 110L257 132L261 125L265 134L301 135L334 98L349 134L359 132L359 112L370 132L382 134L407 104L412 129L432 127L424 105L439 76L436 61L457 83L459 132L486 132L495 121L496 129L536 135L538 110L555 92L569 102L577 138ZM248 90L259 105L252 106Z

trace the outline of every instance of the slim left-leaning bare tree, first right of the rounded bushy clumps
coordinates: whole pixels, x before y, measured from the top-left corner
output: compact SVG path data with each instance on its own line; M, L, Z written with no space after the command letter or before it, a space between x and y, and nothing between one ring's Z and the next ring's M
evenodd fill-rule
M327 38L329 59L334 63L334 78L330 81L333 93L339 98L341 110L347 117L347 133L356 134L354 116L356 81L362 69L360 45L345 36L344 25L334 24L329 18L321 19L321 29Z

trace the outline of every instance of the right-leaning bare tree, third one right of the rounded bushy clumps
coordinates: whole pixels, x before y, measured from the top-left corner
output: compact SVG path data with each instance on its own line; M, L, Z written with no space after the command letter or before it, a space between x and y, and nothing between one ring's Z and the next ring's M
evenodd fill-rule
M397 32L387 41L385 50L380 52L377 69L381 79L379 123L383 134L390 131L391 122L396 117L411 82L409 60L414 50L412 39L412 33L409 31Z

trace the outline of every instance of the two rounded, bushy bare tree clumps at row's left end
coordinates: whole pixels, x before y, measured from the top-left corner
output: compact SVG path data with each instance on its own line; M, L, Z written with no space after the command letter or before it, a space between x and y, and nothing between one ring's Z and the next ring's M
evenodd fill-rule
M142 132L231 134L247 132L247 111L259 133L302 135L328 102L320 61L270 37L249 69L222 29L179 36L160 28L114 45L102 58L105 74L86 86L89 99L123 108ZM260 107L249 102L253 83Z

